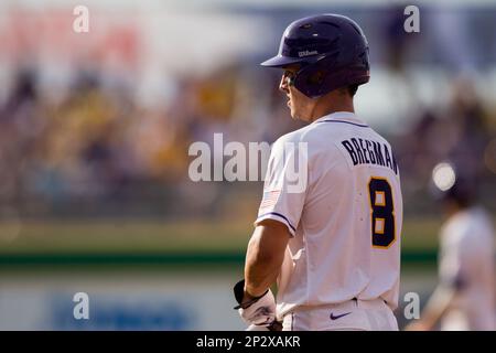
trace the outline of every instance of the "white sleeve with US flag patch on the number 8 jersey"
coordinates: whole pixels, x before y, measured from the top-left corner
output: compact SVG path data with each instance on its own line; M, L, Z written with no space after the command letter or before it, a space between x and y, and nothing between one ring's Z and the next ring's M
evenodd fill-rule
M255 226L263 220L274 220L295 235L308 190L308 160L305 142L274 142Z

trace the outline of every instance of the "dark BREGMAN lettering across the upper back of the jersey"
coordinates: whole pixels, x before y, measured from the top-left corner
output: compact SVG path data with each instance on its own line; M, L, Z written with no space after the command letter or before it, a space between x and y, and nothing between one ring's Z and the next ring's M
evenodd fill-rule
M398 163L386 143L374 140L351 138L341 143L348 151L353 165L376 164L390 168L398 174Z

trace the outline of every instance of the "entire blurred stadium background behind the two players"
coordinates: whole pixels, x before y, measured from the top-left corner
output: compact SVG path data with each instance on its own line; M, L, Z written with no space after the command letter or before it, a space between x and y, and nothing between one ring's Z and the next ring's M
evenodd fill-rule
M73 31L78 4L88 33ZM408 4L420 33L403 31ZM434 164L476 170L496 216L494 1L2 0L0 329L244 329L231 286L261 183L194 183L187 149L214 132L272 142L300 126L279 73L258 63L289 22L319 12L368 36L356 110L400 164L400 303L424 299L443 220ZM89 320L73 317L79 291Z

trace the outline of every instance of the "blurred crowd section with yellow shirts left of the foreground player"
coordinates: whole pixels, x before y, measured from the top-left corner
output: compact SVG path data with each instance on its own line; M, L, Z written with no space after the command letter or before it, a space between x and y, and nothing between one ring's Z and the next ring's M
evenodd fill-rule
M212 143L214 132L226 141L272 142L294 125L273 89L258 105L267 110L256 111L262 97L245 75L227 66L180 77L168 103L142 105L136 87L84 69L52 99L36 71L20 68L0 106L2 206L32 215L177 210L192 142ZM270 124L260 121L269 114Z

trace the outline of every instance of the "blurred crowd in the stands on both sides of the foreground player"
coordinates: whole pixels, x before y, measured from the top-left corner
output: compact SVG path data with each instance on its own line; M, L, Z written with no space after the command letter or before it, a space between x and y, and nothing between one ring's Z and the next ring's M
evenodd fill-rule
M273 142L301 126L289 117L277 74L254 74L230 65L207 77L181 77L166 104L143 106L132 87L108 87L85 71L54 101L37 88L35 71L20 69L0 106L2 205L34 215L186 210L182 202L202 199L181 201L194 188L187 175L192 142L212 145L214 132L224 132L226 141ZM412 204L421 205L441 160L476 171L494 195L495 111L472 82L453 79L452 87L448 107L418 110L407 133L390 137ZM228 188L215 184L195 190L222 194Z

